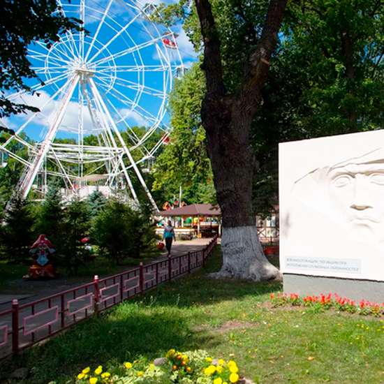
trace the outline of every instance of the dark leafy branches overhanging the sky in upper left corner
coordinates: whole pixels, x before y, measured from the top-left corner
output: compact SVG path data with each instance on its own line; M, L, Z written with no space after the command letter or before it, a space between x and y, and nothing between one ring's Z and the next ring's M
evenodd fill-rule
M49 48L68 30L80 31L80 20L66 17L56 0L2 0L0 13L0 117L14 113L38 111L13 103L6 91L31 91L25 79L38 78L27 59L29 44L43 40Z

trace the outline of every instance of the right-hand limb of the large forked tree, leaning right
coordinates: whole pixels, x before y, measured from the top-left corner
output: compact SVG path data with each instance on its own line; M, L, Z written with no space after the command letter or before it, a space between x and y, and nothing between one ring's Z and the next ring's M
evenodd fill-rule
M243 112L246 112L251 118L255 115L261 100L261 90L267 80L269 60L276 47L277 34L283 20L286 3L287 0L269 2L263 33L258 40L255 52L251 54L244 82L239 90L239 100L245 107Z

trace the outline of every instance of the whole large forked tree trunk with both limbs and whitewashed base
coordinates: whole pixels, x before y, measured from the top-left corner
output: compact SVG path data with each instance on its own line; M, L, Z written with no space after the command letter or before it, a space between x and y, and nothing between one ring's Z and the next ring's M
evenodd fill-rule
M276 47L286 0L271 0L263 33L244 66L237 94L227 94L223 83L220 40L209 0L195 0L204 41L207 92L202 101L202 126L212 163L217 201L221 207L223 267L216 277L254 281L274 279L279 270L263 253L252 206L255 157L249 131L261 101L269 60Z

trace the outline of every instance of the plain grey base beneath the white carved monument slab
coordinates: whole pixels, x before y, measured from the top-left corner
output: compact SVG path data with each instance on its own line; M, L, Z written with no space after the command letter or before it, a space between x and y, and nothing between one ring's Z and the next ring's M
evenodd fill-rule
M331 292L355 301L384 302L384 281L283 274L283 289L285 293L297 293L300 296Z

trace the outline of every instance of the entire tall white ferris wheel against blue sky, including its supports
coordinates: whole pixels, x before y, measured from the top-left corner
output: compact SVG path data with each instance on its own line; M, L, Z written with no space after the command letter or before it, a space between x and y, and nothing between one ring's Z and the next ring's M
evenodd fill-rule
M68 195L128 189L138 202L133 184L141 184L157 211L142 169L169 140L168 94L184 69L177 35L154 22L151 4L58 3L59 12L84 21L85 31L68 32L51 47L29 47L36 93L8 98L40 111L17 117L15 135L1 145L24 165L17 189L43 198L50 178L59 177ZM20 145L27 158L16 153Z

